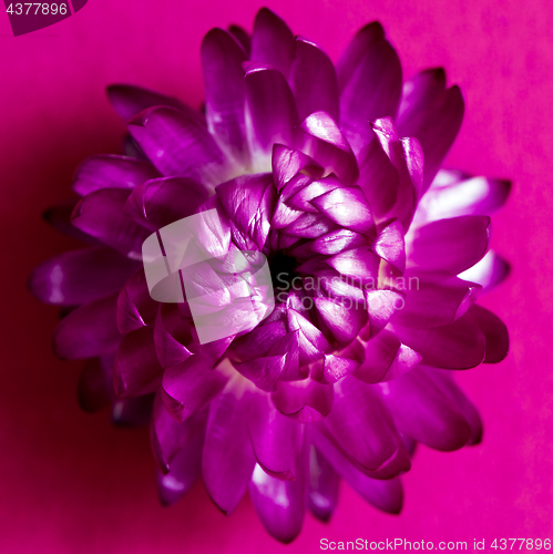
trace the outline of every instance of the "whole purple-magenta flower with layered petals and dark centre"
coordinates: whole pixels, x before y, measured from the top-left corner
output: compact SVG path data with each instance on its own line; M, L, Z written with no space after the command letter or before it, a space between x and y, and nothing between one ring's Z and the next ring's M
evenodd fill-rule
M481 440L451 370L509 349L504 325L475 301L509 270L489 249L489 215L510 183L440 168L462 95L442 70L402 85L379 23L335 69L262 9L252 38L209 31L202 62L205 115L111 86L126 155L88 158L79 202L47 212L89 245L30 278L38 298L66 308L55 352L89 359L85 410L111 404L115 422L150 422L165 504L202 474L223 512L248 490L267 531L289 542L306 509L330 517L341 476L399 513L418 442ZM195 294L185 285L180 301L154 300L143 244L161 245L183 218L212 228L208 214L217 240L199 227L195 239L212 261L173 274ZM275 299L264 283L266 309L253 317L236 301L243 288L221 283L244 284L265 263ZM201 339L193 299L205 297L236 332Z

